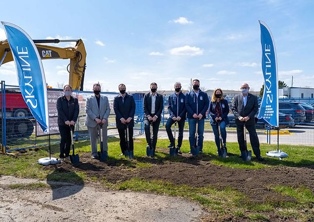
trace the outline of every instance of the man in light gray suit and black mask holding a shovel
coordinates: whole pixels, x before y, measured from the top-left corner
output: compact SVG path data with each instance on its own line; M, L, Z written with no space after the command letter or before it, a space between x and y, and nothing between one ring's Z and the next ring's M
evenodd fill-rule
M107 127L110 106L108 98L100 94L99 83L95 83L92 89L94 94L86 99L85 125L90 134L91 158L94 159L98 157L97 137L98 132L100 133L100 125L102 125L103 151L108 152Z

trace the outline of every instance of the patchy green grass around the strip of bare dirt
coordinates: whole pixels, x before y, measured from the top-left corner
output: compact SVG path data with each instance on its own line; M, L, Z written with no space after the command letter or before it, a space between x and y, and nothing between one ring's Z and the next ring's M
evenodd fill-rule
M157 147L167 148L168 140L158 139ZM108 138L109 158L108 164L120 166L124 164L129 170L137 170L138 168L151 167L152 163L145 161L146 142L144 139L135 139L134 150L136 161L129 161L121 153L119 139ZM289 154L288 158L282 160L266 157L264 162L255 161L244 162L239 157L239 149L237 143L228 143L228 152L231 153L228 158L220 158L217 156L217 149L214 142L204 142L203 150L205 153L201 155L202 160L210 161L213 164L237 168L237 169L262 169L274 166L298 167L314 164L313 147L286 146L281 145L280 148ZM75 142L76 152L79 154L90 153L90 141ZM275 150L275 145L261 144L261 152L266 153L269 150ZM188 141L184 140L181 150L189 151ZM95 177L88 177L84 171L58 172L52 168L45 168L37 163L38 159L47 157L48 148L41 147L38 151L29 150L27 153L12 152L13 155L0 155L0 175L12 175L20 178L38 178L47 181L71 182L75 184L84 184L86 181L97 181ZM51 156L57 157L59 154L59 146L51 145ZM17 157L15 157L17 156ZM159 164L168 161L184 161L185 157L170 158L168 153L161 152L157 148L157 162ZM246 196L232 188L218 190L215 187L191 187L187 185L173 185L163 181L145 181L138 178L132 178L119 184L110 184L102 179L102 184L117 190L133 190L138 192L151 192L156 194L165 194L180 198L189 199L200 204L211 212L216 212L221 220L230 216L241 221L241 219L249 219L250 221L269 221L267 214L280 215L282 218L295 218L297 221L306 221L314 218L314 196L307 187L286 187L271 186L268 187L278 195L290 196L296 201L281 203L276 200L266 200L265 203L252 203L247 201ZM41 183L29 185L11 185L10 188L36 189L45 188Z

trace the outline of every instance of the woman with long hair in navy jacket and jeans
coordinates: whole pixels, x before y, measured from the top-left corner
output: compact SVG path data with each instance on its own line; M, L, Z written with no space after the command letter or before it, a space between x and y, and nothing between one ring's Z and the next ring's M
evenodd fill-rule
M215 136L215 143L217 146L218 154L220 156L223 156L222 149L225 149L225 153L227 150L227 147L225 144L227 133L226 133L225 127L226 125L229 124L228 113L229 113L229 105L228 105L228 101L224 99L223 90L220 88L215 89L212 95L211 102L209 104L209 115L210 115L210 124L212 126L214 136ZM222 148L220 144L219 126L220 126L221 136L223 139Z

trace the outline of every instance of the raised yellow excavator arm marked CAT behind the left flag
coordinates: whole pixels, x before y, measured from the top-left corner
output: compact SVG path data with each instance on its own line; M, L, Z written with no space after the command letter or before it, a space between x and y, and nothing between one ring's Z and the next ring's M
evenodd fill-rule
M69 84L74 90L83 90L84 74L86 68L86 50L82 39L44 39L33 41L36 44L36 47L42 59L70 59L70 64L67 67L67 70L69 72ZM76 41L76 45L74 47L60 48L41 44L69 41ZM4 55L5 57L3 58ZM12 53L7 40L0 41L0 59L1 58L3 59L2 64L13 61Z

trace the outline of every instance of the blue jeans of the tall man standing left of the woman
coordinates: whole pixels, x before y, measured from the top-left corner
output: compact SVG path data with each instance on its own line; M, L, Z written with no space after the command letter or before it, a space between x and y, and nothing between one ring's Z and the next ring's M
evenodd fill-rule
M195 132L196 132L196 121L198 121L198 128L197 128L197 144L196 146L199 147L199 150L203 150L203 140L204 140L204 123L205 119L195 119L190 118L188 119L188 128L189 128L189 137L188 140L190 142L190 148L195 146Z

